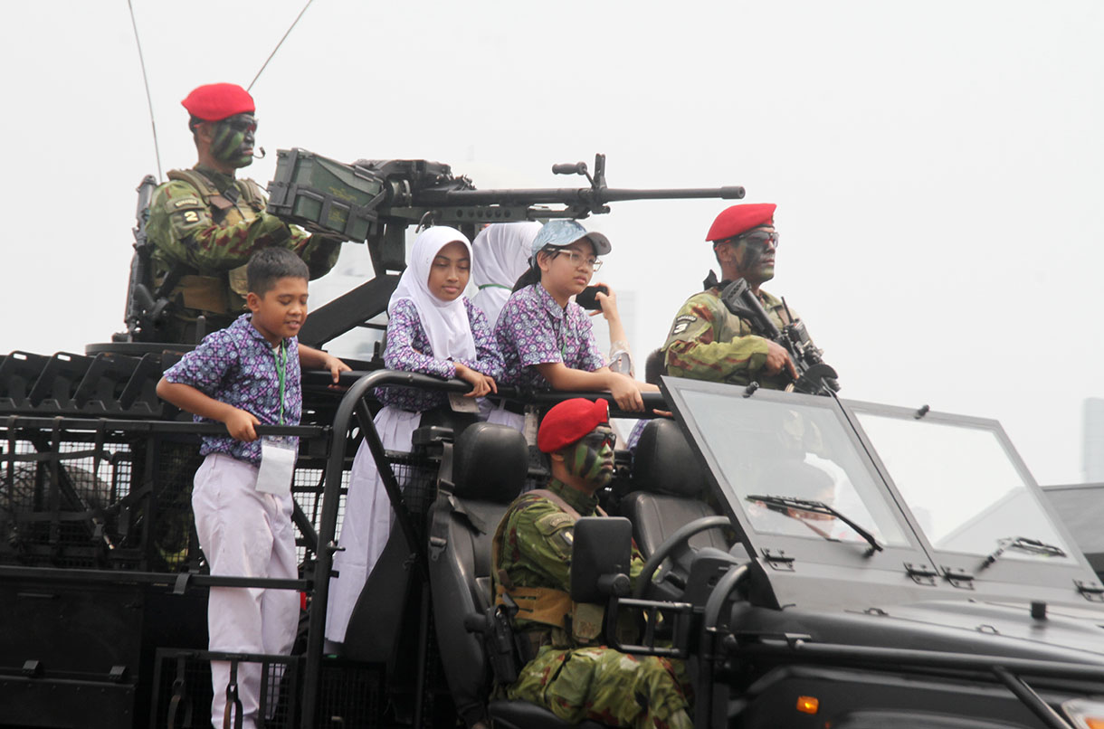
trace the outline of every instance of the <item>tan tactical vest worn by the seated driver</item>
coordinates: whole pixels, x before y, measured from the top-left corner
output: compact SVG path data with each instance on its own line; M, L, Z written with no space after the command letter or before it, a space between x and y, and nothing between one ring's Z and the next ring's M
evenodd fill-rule
M535 495L545 498L576 522L581 518L580 513L572 508L567 502L546 489L535 489L526 495ZM606 516L599 506L597 513ZM602 621L605 618L605 605L592 602L575 602L571 594L563 590L545 587L517 587L506 570L499 569L498 560L502 550L503 530L508 518L503 518L495 530L495 538L491 542L491 575L495 576L495 604L505 604L503 596L510 598L518 605L516 618L541 623L552 629L550 636L553 647L580 647L593 645L595 639L602 634ZM507 586L510 587L507 587ZM618 625L620 632L620 625ZM533 642L533 654L541 644L549 637L544 633L531 633L530 640ZM630 640L630 639L629 639Z

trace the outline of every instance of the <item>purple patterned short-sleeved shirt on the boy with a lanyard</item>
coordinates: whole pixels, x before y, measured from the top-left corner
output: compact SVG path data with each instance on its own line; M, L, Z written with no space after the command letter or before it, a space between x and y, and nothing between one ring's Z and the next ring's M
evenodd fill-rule
M226 329L203 337L200 345L164 373L170 383L190 385L208 397L252 412L262 425L279 425L279 375L274 350L253 326L252 314L242 314ZM302 412L302 383L299 371L299 341L284 340L287 365L284 374L284 425L299 425ZM195 422L217 422L195 416ZM221 425L221 424L220 424ZM261 440L245 443L229 433L203 436L200 454L226 453L261 464Z

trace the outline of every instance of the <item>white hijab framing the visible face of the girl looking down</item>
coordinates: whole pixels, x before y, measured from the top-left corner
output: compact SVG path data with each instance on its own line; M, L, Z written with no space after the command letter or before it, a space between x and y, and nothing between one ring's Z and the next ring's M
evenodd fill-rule
M429 292L429 269L433 259L442 248L453 242L463 243L468 249L468 257L471 257L471 244L456 228L434 226L426 228L414 239L411 262L400 277L395 292L391 294L388 315L394 312L396 301L410 299L414 302L422 326L429 336L434 358L474 360L476 342L471 336L471 324L464 307L464 297L443 301Z

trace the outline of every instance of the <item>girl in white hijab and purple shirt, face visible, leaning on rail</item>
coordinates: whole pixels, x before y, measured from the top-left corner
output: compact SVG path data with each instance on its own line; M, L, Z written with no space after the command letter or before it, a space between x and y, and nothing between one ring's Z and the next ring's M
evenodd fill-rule
M388 346L383 362L389 369L458 377L471 384L468 397L497 392L495 378L502 358L487 318L464 298L471 268L471 244L463 233L438 226L414 240L411 262L388 303ZM383 447L410 451L411 436L423 412L448 407L445 393L408 387L380 387L376 397L385 407L375 416ZM326 637L342 643L349 617L388 537L391 501L375 461L362 442L349 472L340 545L333 558L339 577L330 578Z

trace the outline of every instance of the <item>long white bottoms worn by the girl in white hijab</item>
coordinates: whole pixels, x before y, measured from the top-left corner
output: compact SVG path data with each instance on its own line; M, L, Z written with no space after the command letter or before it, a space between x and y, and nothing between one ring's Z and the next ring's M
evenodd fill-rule
M388 406L376 414L374 422L384 449L410 452L411 438L421 421L421 412ZM338 576L330 578L329 600L326 603L327 640L344 642L352 609L368 576L383 554L393 518L391 500L383 487L380 471L368 446L361 441L349 471L349 495L338 540L344 550L333 556L333 569Z

